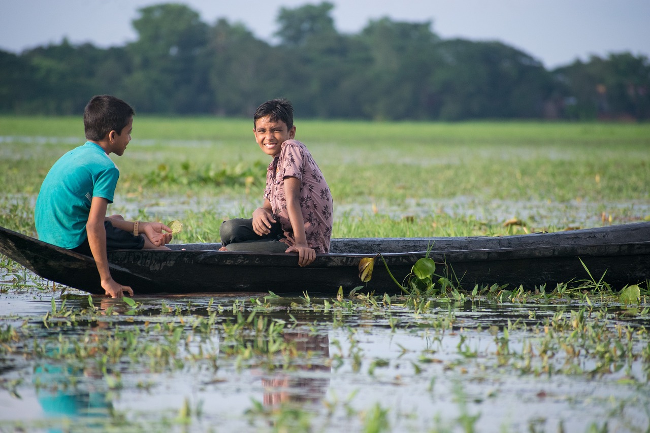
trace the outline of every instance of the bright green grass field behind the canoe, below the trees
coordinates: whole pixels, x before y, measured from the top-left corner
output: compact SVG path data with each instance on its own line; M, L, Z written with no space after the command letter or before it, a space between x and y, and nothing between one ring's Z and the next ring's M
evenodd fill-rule
M296 126L296 138L307 144L330 184L336 237L502 234L510 230L502 223L519 217L522 203L536 207L543 219L523 221L527 230L593 226L601 213L607 220L612 215L612 222L650 217L643 206L635 209L650 201L650 124L298 118ZM51 164L84 142L81 118L0 116L0 131L5 212L16 196L29 207ZM253 140L250 120L211 117L136 116L127 151L112 157L121 172L118 197L145 216L142 203L161 197L242 203L235 212L185 216L203 215L207 220L196 223L210 230L261 202L269 162ZM464 210L448 215L443 202ZM494 203L512 203L513 210L497 215ZM590 215L580 215L585 204ZM546 207L559 207L562 215L544 217ZM467 215L467 209L487 216ZM5 216L3 223L16 228L11 220ZM197 233L181 240L214 240L214 234Z

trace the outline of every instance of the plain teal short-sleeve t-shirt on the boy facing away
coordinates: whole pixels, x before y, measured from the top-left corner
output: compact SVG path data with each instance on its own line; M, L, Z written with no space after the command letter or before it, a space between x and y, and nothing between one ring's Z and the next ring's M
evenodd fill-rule
M68 249L81 245L92 198L112 203L118 177L120 171L98 144L88 141L60 157L36 198L38 239Z

